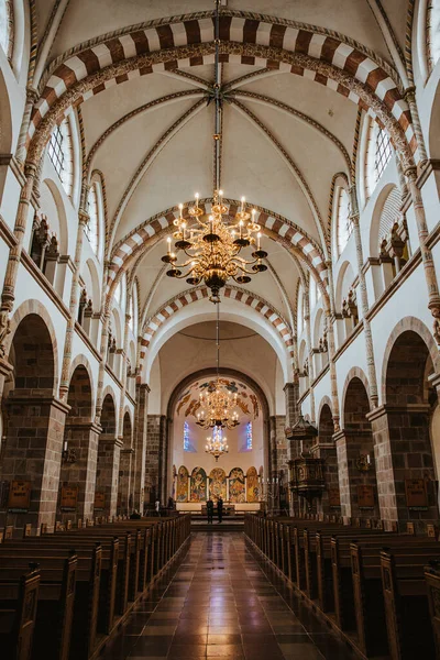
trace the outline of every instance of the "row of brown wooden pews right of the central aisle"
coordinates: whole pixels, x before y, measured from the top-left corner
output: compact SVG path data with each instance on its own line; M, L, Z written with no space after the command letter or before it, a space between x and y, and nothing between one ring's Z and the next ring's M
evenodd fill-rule
M440 543L318 519L248 515L253 547L361 658L440 658Z

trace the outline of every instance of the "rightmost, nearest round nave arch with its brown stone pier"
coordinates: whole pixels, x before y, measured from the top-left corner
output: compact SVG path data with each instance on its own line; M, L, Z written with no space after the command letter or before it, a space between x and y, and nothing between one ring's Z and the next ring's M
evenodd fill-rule
M389 457L393 468L392 519L413 519L424 527L426 520L439 517L433 481L435 462L437 471L439 469L440 447L438 436L431 436L436 430L432 420L438 406L438 394L430 382L430 375L436 373L433 340L421 321L414 323L408 317L396 326L391 340L384 359L385 395L377 441L384 446L381 453ZM437 346L436 353L438 360ZM405 497L405 480L408 479L425 483L426 510L421 513L408 508ZM389 503L387 506L389 508Z

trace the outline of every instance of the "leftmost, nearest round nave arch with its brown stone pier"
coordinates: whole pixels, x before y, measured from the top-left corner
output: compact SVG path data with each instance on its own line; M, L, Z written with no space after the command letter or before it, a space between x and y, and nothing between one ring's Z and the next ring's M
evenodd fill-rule
M24 514L0 513L0 526L13 525L21 538L26 524L36 534L42 522L54 526L56 488L67 408L55 397L56 346L41 305L23 304L13 316L9 361L13 367L2 393L0 480L30 482ZM53 331L53 328L52 328ZM7 520L8 518L8 520Z

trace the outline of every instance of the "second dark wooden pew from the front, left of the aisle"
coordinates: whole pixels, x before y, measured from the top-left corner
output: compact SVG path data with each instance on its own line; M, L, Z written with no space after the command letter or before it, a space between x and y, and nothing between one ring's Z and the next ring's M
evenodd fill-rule
M20 580L29 570L30 560L40 571L40 590L33 635L32 658L38 660L68 660L77 558L23 557L0 552L0 583Z

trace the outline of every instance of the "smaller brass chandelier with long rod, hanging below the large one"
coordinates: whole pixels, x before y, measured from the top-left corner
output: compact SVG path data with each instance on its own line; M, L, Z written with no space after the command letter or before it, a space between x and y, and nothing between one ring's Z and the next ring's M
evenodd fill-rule
M233 429L240 424L237 394L232 395L220 382L220 305L217 306L216 346L217 377L206 392L200 392L200 410L196 424L204 429Z

